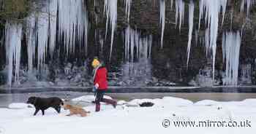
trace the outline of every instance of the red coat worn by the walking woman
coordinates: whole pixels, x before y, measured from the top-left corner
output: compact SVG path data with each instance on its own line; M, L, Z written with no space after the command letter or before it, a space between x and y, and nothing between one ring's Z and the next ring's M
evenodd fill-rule
M94 77L94 85L99 84L99 90L107 90L108 89L108 80L107 80L107 68L102 67L98 68Z

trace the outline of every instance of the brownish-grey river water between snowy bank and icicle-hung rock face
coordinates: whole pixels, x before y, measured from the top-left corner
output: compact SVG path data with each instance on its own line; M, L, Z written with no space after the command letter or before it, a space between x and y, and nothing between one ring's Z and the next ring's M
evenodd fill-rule
M59 97L63 98L68 103L73 103L80 106L94 105L93 103L74 103L70 102L72 98L78 98L82 95L93 95L88 92L37 92L37 93L16 93L16 94L0 94L0 108L6 108L10 103L26 103L30 96L40 96L42 98ZM237 93L237 92L226 92L226 93L205 93L205 92L136 92L136 93L106 93L116 100L131 101L133 99L143 98L163 98L165 96L172 96L176 98L185 98L193 102L202 100L214 100L214 101L243 101L246 98L256 98L256 93Z

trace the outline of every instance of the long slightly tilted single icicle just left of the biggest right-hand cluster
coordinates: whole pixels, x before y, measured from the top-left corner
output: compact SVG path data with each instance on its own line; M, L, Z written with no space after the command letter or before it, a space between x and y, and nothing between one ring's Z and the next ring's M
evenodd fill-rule
M194 1L190 1L189 3L189 40L187 43L187 68L189 66L189 55L190 55L192 31L193 31L193 25L194 25L194 10L195 10Z

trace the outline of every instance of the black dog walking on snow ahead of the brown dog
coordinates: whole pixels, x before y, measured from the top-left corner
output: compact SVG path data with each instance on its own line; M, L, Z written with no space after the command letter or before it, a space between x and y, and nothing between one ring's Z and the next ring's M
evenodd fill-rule
M58 113L61 113L61 105L64 105L63 101L60 98L30 97L26 103L31 103L36 108L36 111L34 111L34 116L39 110L42 111L42 115L45 115L45 110L50 107L55 109Z

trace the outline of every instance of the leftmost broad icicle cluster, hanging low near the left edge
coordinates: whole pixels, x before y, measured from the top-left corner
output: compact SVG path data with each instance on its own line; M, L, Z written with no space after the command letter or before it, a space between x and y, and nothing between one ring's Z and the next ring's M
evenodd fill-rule
M7 48L8 58L8 81L9 86L12 85L12 68L15 63L15 82L19 79L20 69L20 50L22 39L22 25L18 23L9 23L5 25L5 45Z

